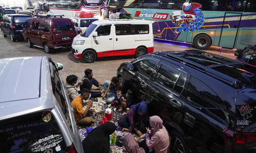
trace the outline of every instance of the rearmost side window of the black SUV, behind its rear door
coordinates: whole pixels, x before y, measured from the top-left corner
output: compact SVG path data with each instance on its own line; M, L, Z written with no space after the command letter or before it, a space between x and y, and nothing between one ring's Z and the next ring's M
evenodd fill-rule
M202 81L190 77L187 89L187 103L197 108L219 108L220 97Z

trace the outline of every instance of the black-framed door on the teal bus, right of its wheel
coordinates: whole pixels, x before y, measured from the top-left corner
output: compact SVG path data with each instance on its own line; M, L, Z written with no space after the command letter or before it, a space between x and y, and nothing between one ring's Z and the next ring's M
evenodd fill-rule
M242 13L225 12L220 33L220 47L234 48L238 36L241 18Z

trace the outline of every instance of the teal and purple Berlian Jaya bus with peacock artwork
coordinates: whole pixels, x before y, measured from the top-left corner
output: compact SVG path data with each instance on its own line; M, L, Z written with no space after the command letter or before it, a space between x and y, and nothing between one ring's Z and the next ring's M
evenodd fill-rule
M111 0L122 7L126 0ZM255 0L135 0L120 12L155 21L154 38L242 49L256 43Z

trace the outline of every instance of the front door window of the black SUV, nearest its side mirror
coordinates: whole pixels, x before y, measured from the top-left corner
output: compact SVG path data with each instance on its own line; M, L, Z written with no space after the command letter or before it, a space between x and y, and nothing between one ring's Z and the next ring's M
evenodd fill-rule
M135 70L147 78L151 77L151 74L154 71L156 65L157 62L153 60L141 60L134 63Z

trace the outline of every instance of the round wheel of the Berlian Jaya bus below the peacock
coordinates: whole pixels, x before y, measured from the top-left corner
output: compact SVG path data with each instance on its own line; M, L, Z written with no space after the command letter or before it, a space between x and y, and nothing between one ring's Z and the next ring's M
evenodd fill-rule
M194 44L198 49L207 49L211 46L211 38L206 34L200 34L196 36Z

